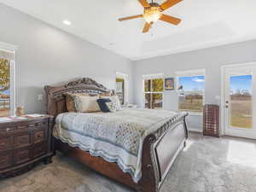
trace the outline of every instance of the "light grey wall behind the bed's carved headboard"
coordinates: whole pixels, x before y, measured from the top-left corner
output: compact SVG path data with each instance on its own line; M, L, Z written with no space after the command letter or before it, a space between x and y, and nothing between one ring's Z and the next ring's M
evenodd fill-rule
M44 93L46 84L89 77L114 89L116 71L129 75L128 100L132 102L130 60L1 3L0 23L0 42L19 46L16 99L26 113L45 113L45 98L38 101L38 94Z

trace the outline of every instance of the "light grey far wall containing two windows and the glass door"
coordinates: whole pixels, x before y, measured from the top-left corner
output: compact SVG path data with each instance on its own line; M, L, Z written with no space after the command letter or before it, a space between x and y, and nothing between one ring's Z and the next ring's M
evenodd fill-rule
M256 61L256 40L136 61L135 102L143 107L143 74L164 73L165 77L175 77L177 71L206 68L206 103L219 104L215 96L221 95L220 67L248 61ZM177 110L177 91L165 91L164 108ZM190 128L202 129L201 116L190 116L188 121Z

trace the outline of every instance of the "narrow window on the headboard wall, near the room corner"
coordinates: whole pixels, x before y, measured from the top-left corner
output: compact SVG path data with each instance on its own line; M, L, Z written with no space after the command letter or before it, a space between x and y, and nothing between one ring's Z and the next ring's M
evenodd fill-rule
M127 102L127 79L128 75L124 73L116 73L115 90L116 94L119 96L119 100L122 105L124 105Z

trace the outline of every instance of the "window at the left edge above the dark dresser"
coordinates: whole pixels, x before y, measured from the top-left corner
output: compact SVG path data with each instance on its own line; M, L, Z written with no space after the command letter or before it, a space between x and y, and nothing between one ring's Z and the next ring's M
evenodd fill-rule
M0 43L0 117L14 114L15 50Z

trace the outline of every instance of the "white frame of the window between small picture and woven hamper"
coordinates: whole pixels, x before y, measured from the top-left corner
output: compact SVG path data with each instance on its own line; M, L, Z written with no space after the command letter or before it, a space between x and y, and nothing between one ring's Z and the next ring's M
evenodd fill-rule
M179 91L178 91L178 87L179 87L179 78L181 77L195 77L195 76L204 76L205 77L205 82L206 82L206 69L205 68L200 68L200 69L191 69L191 70L184 70L184 71L179 71L176 72L176 90L177 90L177 97L179 96ZM185 92L185 91L184 91ZM206 96L206 84L204 86L204 90L203 90L203 99L202 99L202 106L205 105L205 96ZM179 109L179 101L177 98L177 111L181 112L183 110ZM203 111L201 112L195 112L195 111L186 111L191 115L202 115Z

